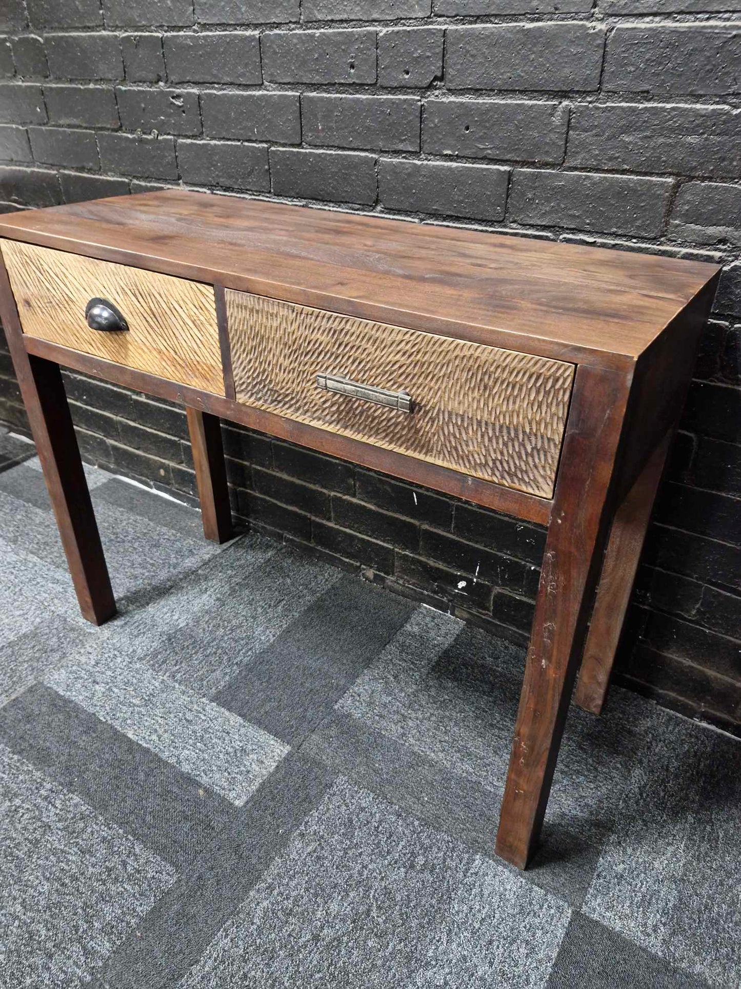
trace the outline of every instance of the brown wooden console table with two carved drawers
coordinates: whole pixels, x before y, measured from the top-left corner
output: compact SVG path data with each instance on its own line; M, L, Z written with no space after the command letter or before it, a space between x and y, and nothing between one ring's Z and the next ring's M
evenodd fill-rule
M496 852L599 713L712 265L171 190L0 218L0 315L84 616L116 610L59 366L548 526Z

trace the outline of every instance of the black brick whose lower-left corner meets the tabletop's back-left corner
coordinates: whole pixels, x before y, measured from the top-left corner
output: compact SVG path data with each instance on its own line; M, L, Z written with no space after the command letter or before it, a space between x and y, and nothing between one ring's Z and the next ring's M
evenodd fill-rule
M267 144L179 140L178 163L184 182L224 189L270 191Z

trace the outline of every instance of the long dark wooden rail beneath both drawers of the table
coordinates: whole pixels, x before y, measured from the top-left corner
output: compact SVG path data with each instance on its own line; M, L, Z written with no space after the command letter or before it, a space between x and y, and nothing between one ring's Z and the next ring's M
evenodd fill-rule
M78 350L68 350L66 347L57 346L46 340L26 337L25 342L29 353L39 354L49 360L56 360L66 367L82 371L95 378L102 378L104 381L111 381L114 384L123 385L124 388L132 388L137 392L145 392L147 395L154 395L160 399L168 399L170 402L180 402L183 405L200 408L212 415L219 415L223 419L239 422L250 429L270 433L281 439L287 439L291 443L307 446L312 450L319 450L321 453L327 453L333 457L352 460L362 467L370 467L373 471L391 474L405 481L411 481L412 484L422 485L425 488L435 488L445 494L453 494L454 497L473 501L487 508L494 508L496 511L515 515L540 525L547 525L550 517L552 501L547 498L535 497L533 494L525 494L512 488L502 488L486 481L478 481L476 478L466 477L464 474L458 474L456 471L451 471L445 467L438 467L436 464L428 464L416 460L414 457L394 453L391 450L382 450L379 447L371 446L370 443L362 443L360 440L351 439L348 436L328 433L316 426L283 418L274 412L229 402L228 399L209 395L206 392L197 392L185 385L176 385L173 382L164 381L162 378L156 378L154 375L134 371L121 364L104 361L98 357L91 357L89 354L83 354Z

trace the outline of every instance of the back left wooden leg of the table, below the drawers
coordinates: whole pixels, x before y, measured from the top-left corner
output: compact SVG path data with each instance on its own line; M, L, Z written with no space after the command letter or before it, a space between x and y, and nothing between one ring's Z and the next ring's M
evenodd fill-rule
M204 535L214 543L225 543L231 538L231 506L221 445L221 424L217 415L209 415L190 405L186 411Z

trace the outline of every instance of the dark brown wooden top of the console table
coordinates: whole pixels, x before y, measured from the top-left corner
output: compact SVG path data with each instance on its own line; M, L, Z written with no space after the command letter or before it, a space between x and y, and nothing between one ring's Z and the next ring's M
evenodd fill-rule
M718 271L180 189L6 214L0 236L614 368L631 366Z

